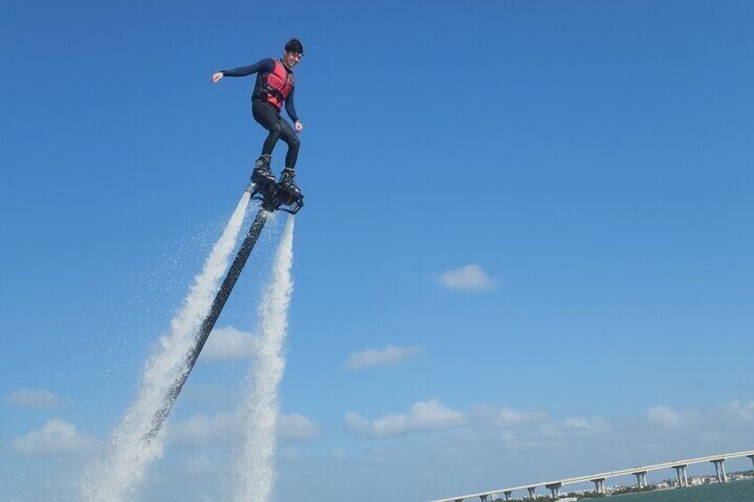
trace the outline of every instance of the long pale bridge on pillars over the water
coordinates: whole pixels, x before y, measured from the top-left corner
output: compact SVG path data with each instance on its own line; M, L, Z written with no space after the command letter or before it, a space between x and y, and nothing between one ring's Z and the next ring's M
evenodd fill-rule
M622 469L620 471L610 471L608 473L589 474L585 476L576 476L573 478L565 478L561 480L549 481L549 482L535 482L532 484L525 484L521 486L514 486L509 488L501 488L499 490L482 491L479 493L471 493L469 495L459 495L451 498L439 498L432 500L431 502L463 502L468 498L480 498L481 502L491 502L495 497L502 496L505 500L511 500L514 491L526 490L528 491L529 498L536 498L537 488L546 488L550 491L552 498L560 497L560 489L566 484L574 484L577 482L593 482L595 490L598 493L605 494L605 481L609 478L624 476L632 474L637 478L637 487L645 488L646 474L651 471L659 471L661 469L675 469L678 476L678 486L688 486L688 476L686 475L686 467L694 464L702 464L710 462L714 464L715 471L718 474L718 482L727 482L726 474L726 459L728 458L741 458L748 457L751 459L752 465L754 465L754 450L738 451L735 453L726 453L723 455L712 455L710 457L699 458L686 458L685 460L674 460L672 462L664 462L662 464L655 464L654 466L638 466L630 469Z

